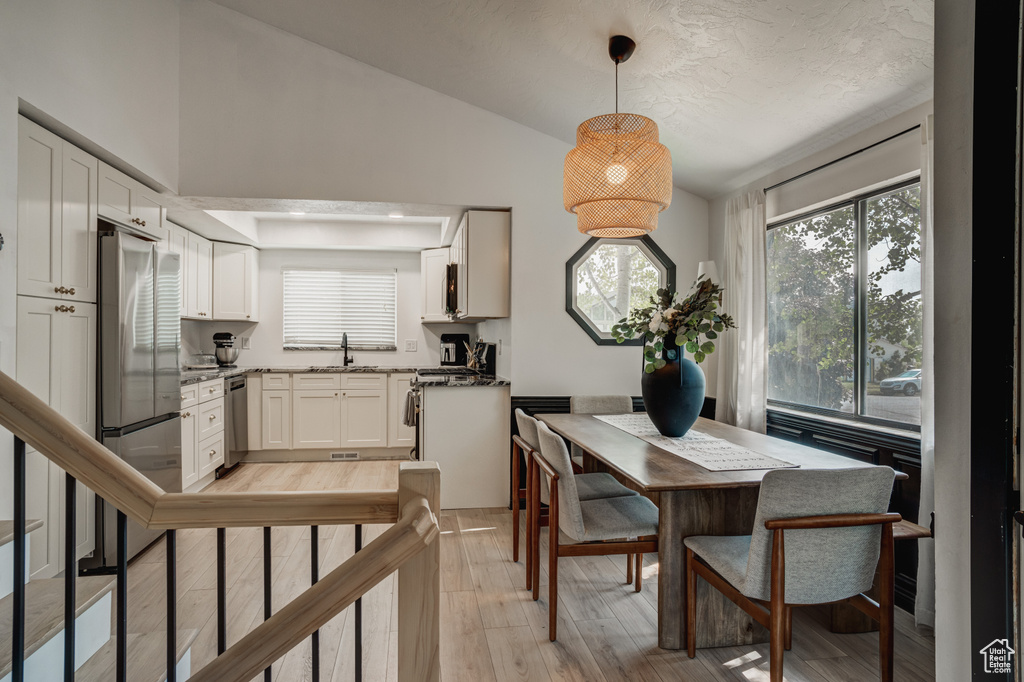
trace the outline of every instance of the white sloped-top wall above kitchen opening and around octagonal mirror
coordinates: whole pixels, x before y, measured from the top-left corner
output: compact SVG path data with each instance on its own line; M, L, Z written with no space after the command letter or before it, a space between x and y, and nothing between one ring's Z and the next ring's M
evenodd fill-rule
M181 194L511 207L512 318L481 328L513 393L639 394L640 350L564 310L568 144L205 0L181 26ZM677 190L653 238L691 281L707 202Z

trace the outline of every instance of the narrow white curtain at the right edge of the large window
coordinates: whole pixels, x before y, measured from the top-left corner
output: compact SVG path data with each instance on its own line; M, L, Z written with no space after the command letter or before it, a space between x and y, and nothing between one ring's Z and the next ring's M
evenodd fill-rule
M921 508L919 523L928 526L935 510L935 259L932 187L935 145L933 117L921 126L921 298L923 338L921 361ZM935 541L918 541L918 599L914 619L919 626L935 628Z

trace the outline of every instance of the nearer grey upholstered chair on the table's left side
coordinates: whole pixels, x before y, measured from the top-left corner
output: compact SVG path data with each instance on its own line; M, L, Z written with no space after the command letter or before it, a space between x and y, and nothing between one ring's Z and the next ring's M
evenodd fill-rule
M558 558L562 556L642 556L657 551L657 507L640 495L581 500L580 476L572 473L569 451L561 436L538 423L540 452L534 451L532 491L542 476L548 482L548 638L558 623ZM532 492L531 491L531 492ZM530 496L531 516L540 511L540 496ZM534 564L534 601L540 598L540 561ZM636 591L641 590L637 570Z

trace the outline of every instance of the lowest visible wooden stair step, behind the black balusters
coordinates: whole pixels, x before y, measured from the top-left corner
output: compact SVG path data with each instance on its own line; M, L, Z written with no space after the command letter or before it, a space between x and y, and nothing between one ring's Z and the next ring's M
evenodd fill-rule
M130 625L130 622L129 622ZM187 680L191 673L191 645L198 630L179 630L177 640L177 679ZM84 666L78 669L79 682L110 682L116 679L116 638L111 637ZM132 682L164 682L167 679L167 637L163 632L128 635L128 675Z

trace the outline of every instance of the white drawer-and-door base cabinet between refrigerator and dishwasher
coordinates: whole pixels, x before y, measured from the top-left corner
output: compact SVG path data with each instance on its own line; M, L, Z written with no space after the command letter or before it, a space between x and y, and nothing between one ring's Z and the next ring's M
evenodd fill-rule
M224 380L181 387L181 489L198 493L224 463Z

